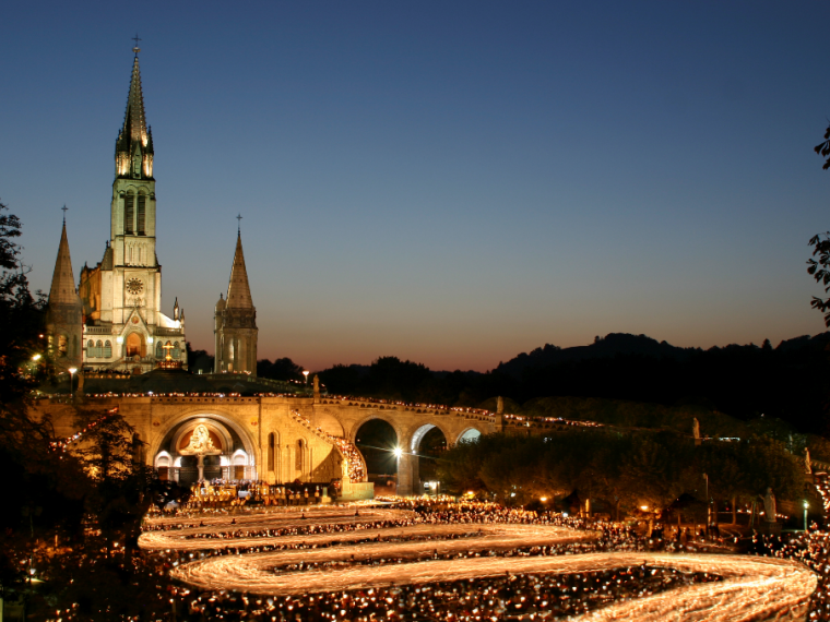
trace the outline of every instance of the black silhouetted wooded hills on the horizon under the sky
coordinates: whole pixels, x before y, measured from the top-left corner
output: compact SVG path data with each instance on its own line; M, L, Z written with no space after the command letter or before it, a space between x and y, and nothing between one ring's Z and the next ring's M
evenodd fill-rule
M320 372L329 392L422 404L494 408L497 395L517 403L547 396L602 397L660 405L697 405L744 420L764 415L796 430L830 432L827 383L830 333L773 348L731 345L675 348L643 335L610 334L589 346L545 346L491 372L432 372L382 357L371 366Z

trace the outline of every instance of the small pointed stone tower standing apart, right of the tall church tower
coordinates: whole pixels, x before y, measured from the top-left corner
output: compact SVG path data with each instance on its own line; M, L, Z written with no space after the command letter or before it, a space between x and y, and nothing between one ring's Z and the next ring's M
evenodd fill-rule
M237 231L236 253L230 268L227 298L216 302L214 371L257 374L257 308L251 299L248 271L242 254L242 237Z

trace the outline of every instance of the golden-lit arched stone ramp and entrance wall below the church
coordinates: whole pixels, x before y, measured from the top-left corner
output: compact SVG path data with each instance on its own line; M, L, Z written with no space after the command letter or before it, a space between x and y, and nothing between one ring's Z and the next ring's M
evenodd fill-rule
M402 450L398 458L398 491L419 490L417 453L424 435L438 428L448 445L501 431L503 417L484 410L388 403L329 396L86 396L86 409L105 412L118 407L137 431L146 464L191 483L205 478L263 479L271 482L348 481L348 459L360 427L374 419L389 423ZM35 409L49 415L59 436L71 436L75 410L66 400L44 398ZM210 438L211 455L188 455L197 428ZM358 454L359 455L359 454ZM359 458L363 459L361 456ZM352 473L366 481L366 470Z

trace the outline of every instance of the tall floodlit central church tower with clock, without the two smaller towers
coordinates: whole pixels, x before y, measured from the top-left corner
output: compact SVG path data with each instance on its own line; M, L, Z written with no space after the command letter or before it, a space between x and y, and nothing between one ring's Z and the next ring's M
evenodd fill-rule
M123 125L116 140L110 241L95 268L81 273L84 366L143 373L168 357L187 367L183 312L162 313L156 258L153 134L146 124L138 47L133 48Z

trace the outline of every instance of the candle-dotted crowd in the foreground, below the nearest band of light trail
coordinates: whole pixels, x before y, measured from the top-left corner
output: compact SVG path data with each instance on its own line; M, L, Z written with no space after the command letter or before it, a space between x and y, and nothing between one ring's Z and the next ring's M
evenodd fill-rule
M496 577L402 585L334 594L262 598L173 591L176 611L188 620L559 620L622 598L641 598L681 585L720 581L706 573L681 573L647 565L565 575Z

